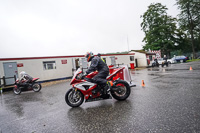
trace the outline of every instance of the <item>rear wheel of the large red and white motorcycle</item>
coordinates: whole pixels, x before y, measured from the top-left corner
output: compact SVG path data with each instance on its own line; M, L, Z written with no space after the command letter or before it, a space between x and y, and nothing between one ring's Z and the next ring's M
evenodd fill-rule
M111 95L119 101L126 100L131 93L129 84L126 81L118 81L113 88L111 88Z

